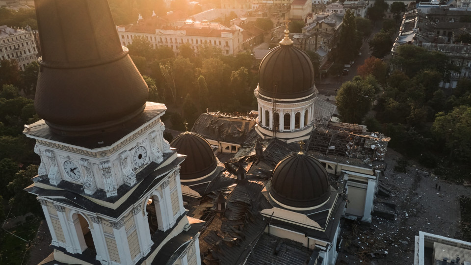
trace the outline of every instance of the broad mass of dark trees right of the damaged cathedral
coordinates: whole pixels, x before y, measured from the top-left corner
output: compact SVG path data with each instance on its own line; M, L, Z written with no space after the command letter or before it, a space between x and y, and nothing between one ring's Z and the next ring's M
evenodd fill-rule
M387 65L368 58L358 68L360 76L342 84L337 96L342 120L390 136L390 147L426 166L439 166L439 173L452 163L458 165L455 170L466 167L471 159L471 81L461 79L446 94L439 84L456 69L445 55L417 46L400 46L392 65L396 70L386 76ZM469 169L459 174L469 175Z

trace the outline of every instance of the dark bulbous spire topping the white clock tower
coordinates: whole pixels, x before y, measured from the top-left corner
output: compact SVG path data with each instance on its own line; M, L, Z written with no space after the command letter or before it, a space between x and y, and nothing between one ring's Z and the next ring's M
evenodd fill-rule
M62 134L110 131L142 113L149 89L107 0L35 0L42 58L34 106Z

